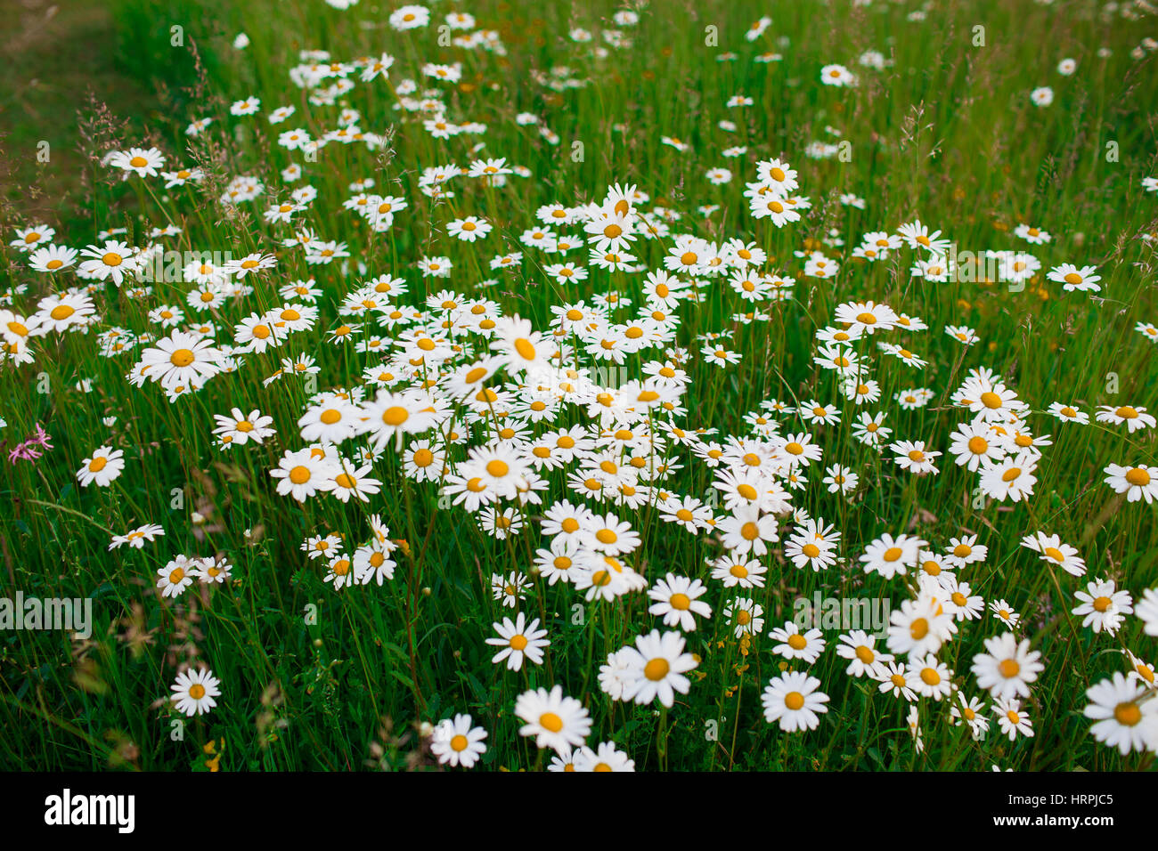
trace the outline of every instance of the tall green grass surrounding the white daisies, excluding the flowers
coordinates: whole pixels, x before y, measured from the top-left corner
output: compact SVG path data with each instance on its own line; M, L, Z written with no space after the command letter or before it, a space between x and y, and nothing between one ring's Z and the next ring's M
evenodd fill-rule
M1133 617L1116 637L1082 629L1080 618L1068 610L1077 604L1072 594L1084 589L1084 580L1062 572L1055 577L1019 545L1039 529L1057 534L1078 548L1089 579L1114 578L1135 599L1158 580L1155 507L1127 504L1102 484L1108 463L1156 463L1153 430L1127 434L1102 424L1061 424L1042 413L1053 402L1090 412L1097 405L1153 409L1158 403L1156 350L1134 330L1138 322L1158 321L1153 243L1139 239L1158 228L1158 198L1141 186L1143 177L1158 173L1150 94L1158 90L1158 73L1152 53L1130 57L1148 30L1102 19L1085 2L962 1L930 9L923 22L906 20L917 8L913 3L765 6L774 23L749 43L743 32L756 13L741 3L657 1L630 28L635 45L608 47L600 58L592 47L600 44L602 21L617 8L607 2L462 7L476 15L479 28L500 32L505 56L441 46L433 25L396 32L386 23L389 9L375 10L368 0L346 12L321 0L112 3L119 34L116 67L139 91L164 93L167 104L164 111L134 116L134 122L157 140L167 169L191 163L195 154L207 157L207 183L215 189L164 191L156 178L123 183L90 163L52 163L51 169L73 170L65 179L79 179L86 170L94 186L87 221L61 228L60 244L82 248L95 230L118 226L130 227L130 241L144 244L148 227L175 222L183 228L167 241L175 250L242 256L279 247L287 226L264 222L261 212L288 193L278 173L302 157L278 147L277 134L301 126L316 137L335 126L338 110L308 104L290 82L287 69L301 49L329 50L338 60L389 52L396 57L390 73L395 85L417 79L425 61L461 61L462 85L441 85L448 116L482 122L488 131L432 139L413 116L393 109L396 100L382 80L359 82L343 105L361 113L362 130L393 131L389 145L380 152L330 145L317 163L305 163L305 182L318 195L298 225L313 227L322 239L347 242L366 273L356 267L343 272L339 264L307 267L300 251L277 248L274 273L259 277L251 295L226 305L215 317L218 340L232 342L233 325L243 317L281 303L278 286L310 274L324 292L317 328L291 337L273 353L247 357L243 368L215 377L196 395L170 404L154 384L131 387L124 375L140 349L105 359L96 353L93 333L41 338L35 364L0 364L12 388L0 398L6 452L36 424L44 424L54 445L35 464L0 462L0 596L16 590L90 596L95 616L87 641L69 640L63 632L0 632L0 721L9 731L0 741L0 765L205 770L203 746L213 741L223 770L428 766L433 761L418 741L416 724L469 712L489 731L482 768L544 768L548 755L518 733L514 700L528 688L559 684L592 714L588 743L614 740L637 769L1149 768L1150 755L1122 757L1097 743L1082 710L1091 683L1128 670L1119 653L1123 647L1153 662L1153 638ZM438 16L448 10L433 7ZM184 28L183 46L169 45L173 24ZM596 42L571 42L571 25L596 30ZM974 46L976 25L984 27L984 46ZM717 46L705 45L706 27L718 28ZM235 51L229 45L242 30L251 43ZM200 69L190 52L193 44ZM1102 46L1112 50L1109 57L1097 56ZM870 49L888 56L892 67L859 67L857 57ZM734 61L719 61L726 51L734 51ZM772 51L783 60L753 61ZM1055 69L1064 57L1078 60L1072 76ZM820 68L829 63L852 68L860 85L821 86ZM571 68L587 85L557 93L536 82L555 66ZM1038 86L1054 89L1048 108L1029 102L1028 93ZM727 108L735 94L752 97L753 105ZM262 113L230 117L228 104L249 95L262 98ZM117 113L131 112L140 98L133 94L109 105ZM285 124L270 125L264 115L280 104L298 111ZM521 111L541 116L559 144L549 145L533 127L516 125ZM204 116L214 118L205 137L210 146L197 144L196 152L186 153L184 127ZM736 131L720 130L721 119L735 122ZM49 117L29 115L17 118L16 127L23 138L37 139L49 124ZM662 135L690 147L680 153L664 145ZM805 148L816 140L848 141L851 159L808 159ZM485 147L471 153L477 141ZM577 142L579 161L572 156ZM1113 161L1107 160L1108 142L1116 142L1120 153ZM123 138L118 144L138 141ZM732 145L747 146L747 154L723 157L720 152ZM418 192L422 168L461 166L478 156L505 156L533 176L511 178L500 189L459 179L455 197L438 207ZM800 192L813 203L801 221L782 229L754 220L741 196L743 182L755 179L755 162L777 156L799 170ZM720 166L734 173L733 181L712 186L704 171ZM221 183L239 174L261 178L266 195L242 205L245 215L228 217L214 197ZM379 236L342 208L351 195L349 184L365 177L376 181L374 191L402 195L410 203L393 229ZM518 313L536 329L549 325L552 305L579 298L589 303L595 293L622 289L640 303L642 276L593 267L588 280L563 289L542 273L552 259L518 245L540 205L599 201L611 183L637 183L652 197L644 208L662 204L682 212L673 233L756 241L770 256L769 270L797 279L790 301L762 306L770 310L767 323L734 323L732 315L746 308L723 279L712 281L701 303L679 309L680 345L696 353L696 335L730 330L731 347L743 360L723 371L694 358L687 367L688 413L677 424L742 435L742 415L762 399L836 403L842 425L807 428L785 417L783 433L813 432L824 449L823 467L840 462L862 478L855 494L837 498L820 483L822 467L807 470L808 486L793 492L793 505L836 524L848 564L814 573L797 571L778 556L764 559L768 585L747 595L764 608L765 633L750 646L732 637L721 615L735 592L709 579L704 565L721 552L718 544L665 524L652 509L601 507L640 530L643 545L630 560L650 584L670 571L699 577L709 586L704 599L713 616L687 636L688 651L701 663L690 692L666 712L658 704L611 702L596 682L607 653L653 628L665 629L647 614L645 594L585 606L579 618L573 608L584 603L579 593L535 582L522 606L549 631L547 663L518 674L491 663L493 651L484 640L493 634L491 623L512 610L491 599L489 575L526 572L534 551L548 545L532 519L536 512L528 512L520 536L494 541L461 509L440 507L434 486L406 479L393 446L373 474L382 479L382 492L366 506L328 498L299 505L274 493L269 476L283 450L307 445L296 427L307 402L302 382L262 383L278 358L302 352L317 358L318 390L358 384L362 367L376 362L352 347L329 345L323 333L338 324L342 296L361 280L387 272L404 277L410 305L420 305L444 285L464 295L485 294L505 315ZM866 210L838 204L842 192L864 197ZM720 210L703 217L697 208L708 204ZM442 233L447 221L467 214L488 219L494 232L472 245ZM1011 292L1004 285L911 278L908 249L872 265L849 257L865 232L895 230L914 218L941 229L960 250L1028 250L1042 262L1042 273L1024 292ZM6 222L5 244L25 221L34 223L24 214ZM1026 245L1013 236L1019 222L1049 230L1053 242ZM821 245L834 228L843 248ZM642 263L652 269L661 264L666 247L660 242L636 245ZM840 274L833 280L805 277L804 261L794 252L806 247L838 258ZM477 291L482 280L499 277L488 261L506 250L522 250L520 266L493 289ZM453 276L420 278L413 264L424 254L450 256ZM582 261L582 255L572 257ZM1046 271L1064 262L1098 265L1098 298L1063 293L1045 280ZM15 309L32 313L52 284L28 270L14 251L3 265L12 286L27 287L15 295ZM78 283L71 273L57 279L58 287ZM151 296L138 300L109 287L95 295L100 328L167 333L147 313L162 303L184 305L188 289L181 283L157 284ZM967 419L948 402L966 371L985 366L1005 376L1035 411L1029 418L1034 433L1054 440L1045 449L1028 504L989 500L977 507L976 476L955 467L948 455L938 460L940 475L911 477L888 455L850 438L856 411L838 395L831 374L813 365L813 332L833 323L838 305L865 299L887 302L930 325L922 333L886 336L925 358L929 365L922 371L877 352L872 344L879 336L858 345L860 353L872 355L873 376L882 388L881 401L868 410L888 412L894 439L924 440L944 452L950 432ZM186 310L186 320L192 318ZM976 329L980 343L961 347L941 332L945 324ZM468 357L483 349L471 340ZM629 358L631 377L640 375L647 359ZM75 388L82 379L91 380L90 393ZM908 387L931 388L936 398L924 409L902 411L893 397ZM233 406L272 416L277 436L261 447L218 452L211 441L212 415ZM117 421L108 427L102 419L110 416ZM584 421L579 409L565 409L559 425ZM471 443L483 439L476 431ZM101 445L124 449L127 468L108 489L81 489L75 471ZM463 457L462 447L453 457ZM710 471L687 450L680 461L683 469L665 487L705 497ZM549 478L545 505L564 497L576 501L562 472ZM193 512L204 521L195 522ZM325 530L359 543L371 513L381 514L391 537L409 542L411 556L396 553L395 578L381 588L335 593L323 581L321 563L307 560L299 545ZM723 516L723 509L717 514ZM146 522L162 524L166 535L142 550L108 551L112 534ZM824 630L828 647L809 668L831 697L820 726L786 734L763 719L760 694L783 669L768 631L792 617L796 599L816 592L887 599L899 608L909 596L906 584L866 577L858 557L874 537L906 531L938 549L969 531L989 548L984 564L959 573L987 603L1007 600L1023 616L1018 634L1042 653L1046 669L1027 703L1034 738L1010 742L994 721L989 736L974 741L951 724L947 702L922 699L924 751L917 753L906 721L908 705L878 694L871 681L844 674L846 662L835 653L843 630ZM157 568L174 556L213 552L225 553L234 566L226 585L195 585L176 601L162 600L153 588ZM310 606L316 607L316 623L307 623ZM939 654L957 673L962 692L987 704L991 700L969 674L969 663L983 639L999 631L987 611L981 621L962 623ZM189 721L184 738L175 740L171 722L179 716L166 698L178 666L195 660L221 680L222 696L213 712ZM804 669L799 662L792 667Z

